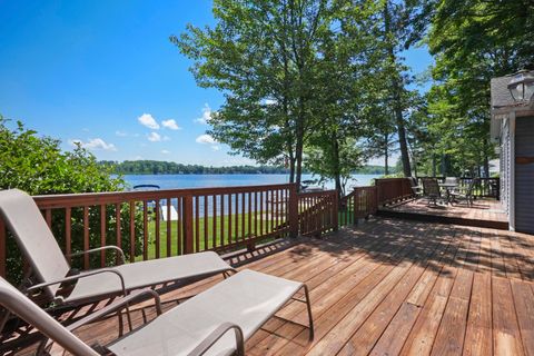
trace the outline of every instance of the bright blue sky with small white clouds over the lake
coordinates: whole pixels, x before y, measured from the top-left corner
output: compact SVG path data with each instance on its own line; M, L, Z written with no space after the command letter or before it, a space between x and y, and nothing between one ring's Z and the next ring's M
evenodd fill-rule
M187 23L212 24L211 1L0 0L0 113L99 159L250 164L205 135L222 96L168 40ZM414 72L432 61L405 57Z

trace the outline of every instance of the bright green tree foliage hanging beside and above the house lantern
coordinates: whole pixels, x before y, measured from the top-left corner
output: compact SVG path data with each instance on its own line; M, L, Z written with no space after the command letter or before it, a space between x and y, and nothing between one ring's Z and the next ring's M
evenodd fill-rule
M478 172L494 157L490 144L490 80L534 58L534 3L530 0L435 1L428 36L435 58L432 130L453 169ZM456 161L456 162L454 162ZM454 168L456 167L456 168Z

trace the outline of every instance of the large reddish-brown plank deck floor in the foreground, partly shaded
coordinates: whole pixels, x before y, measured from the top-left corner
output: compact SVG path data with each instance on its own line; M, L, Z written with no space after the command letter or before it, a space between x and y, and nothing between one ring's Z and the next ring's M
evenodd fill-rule
M397 219L298 239L240 268L306 283L316 337L308 342L305 307L293 301L247 355L532 355L533 260L531 235ZM218 280L165 295L166 307ZM136 324L152 315L138 306ZM110 318L79 335L106 344L117 329Z

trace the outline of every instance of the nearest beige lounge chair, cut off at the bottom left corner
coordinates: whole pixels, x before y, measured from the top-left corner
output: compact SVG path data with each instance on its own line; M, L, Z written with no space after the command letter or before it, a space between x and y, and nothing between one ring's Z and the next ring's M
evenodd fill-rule
M304 289L306 300L295 298L295 294L300 289ZM77 328L110 313L120 313L128 303L147 296L155 298L158 316L111 344L91 347L72 334ZM33 325L65 350L79 356L101 354L243 356L245 342L289 299L306 304L309 338L313 339L314 322L306 285L253 270L243 270L165 314L161 314L158 294L145 289L119 299L68 327L63 327L0 278L0 304L4 308ZM55 346L51 342L43 340L39 352L50 350Z

